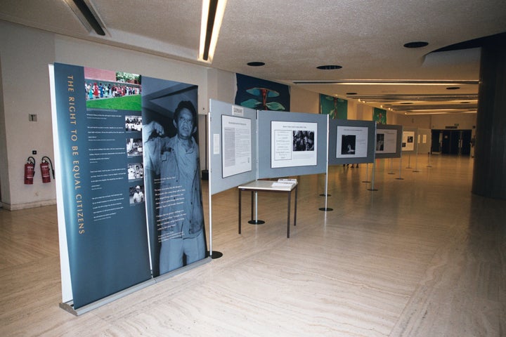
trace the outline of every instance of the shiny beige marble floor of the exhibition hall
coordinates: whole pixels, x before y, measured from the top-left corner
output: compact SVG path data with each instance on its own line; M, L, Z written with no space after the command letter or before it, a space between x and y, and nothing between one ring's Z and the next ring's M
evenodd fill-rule
M299 176L290 239L285 197L259 194L264 225L245 203L238 234L237 190L215 194L221 258L77 317L56 206L0 209L0 336L506 336L506 201L470 192L472 160L380 159L377 191L372 164L332 166L333 211Z

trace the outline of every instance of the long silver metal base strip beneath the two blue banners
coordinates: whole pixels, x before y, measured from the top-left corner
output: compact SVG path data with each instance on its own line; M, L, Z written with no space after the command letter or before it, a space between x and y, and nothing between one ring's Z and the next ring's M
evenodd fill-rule
M65 310L67 312L70 312L74 316L83 315L86 312L89 312L91 310L101 307L102 305L106 305L108 303L111 303L119 298L130 295L131 293L135 293L136 291L144 289L148 286L152 286L153 284L155 284L157 282L161 282L164 279L169 279L170 277L179 275L182 272L186 272L186 270L193 269L195 267L198 267L198 266L203 265L204 263L208 263L210 261L211 261L210 257L202 258L202 260L198 260L197 262L191 263L190 265L185 265L184 267L173 270L171 272L167 272L166 274L160 275L159 277L155 277L154 279L148 279L147 281L136 284L135 286L131 286L130 288L124 289L122 291L118 291L117 293L113 293L112 295L104 297L100 300L96 300L93 303L83 305L79 309L74 309L74 301L73 300L69 300L68 302L65 302L65 303L60 303L60 308L62 308L63 310Z

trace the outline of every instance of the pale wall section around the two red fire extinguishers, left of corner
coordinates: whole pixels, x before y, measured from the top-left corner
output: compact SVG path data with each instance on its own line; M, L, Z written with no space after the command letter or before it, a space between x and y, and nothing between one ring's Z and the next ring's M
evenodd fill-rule
M53 34L0 21L1 94L0 185L7 209L54 204L54 183L41 182L41 157L53 159L48 63L53 62ZM29 121L37 114L37 121ZM33 185L23 181L27 157L37 160Z

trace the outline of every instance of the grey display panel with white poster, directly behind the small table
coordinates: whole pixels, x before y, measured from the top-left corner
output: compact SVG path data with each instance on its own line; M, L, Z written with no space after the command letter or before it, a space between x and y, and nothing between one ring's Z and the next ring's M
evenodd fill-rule
M325 173L327 118L325 114L260 110L258 178Z

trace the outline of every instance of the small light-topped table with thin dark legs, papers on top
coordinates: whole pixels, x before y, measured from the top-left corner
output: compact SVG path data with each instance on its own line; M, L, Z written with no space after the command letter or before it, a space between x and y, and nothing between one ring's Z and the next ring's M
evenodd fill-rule
M273 180L254 180L251 183L238 186L239 190L239 234L241 234L241 192L252 192L252 220L253 220L253 195L254 192L277 192L286 193L288 195L288 212L287 212L287 237L290 237L290 202L292 199L292 191L295 190L295 203L294 203L294 225L297 224L297 183L293 185L279 185Z

